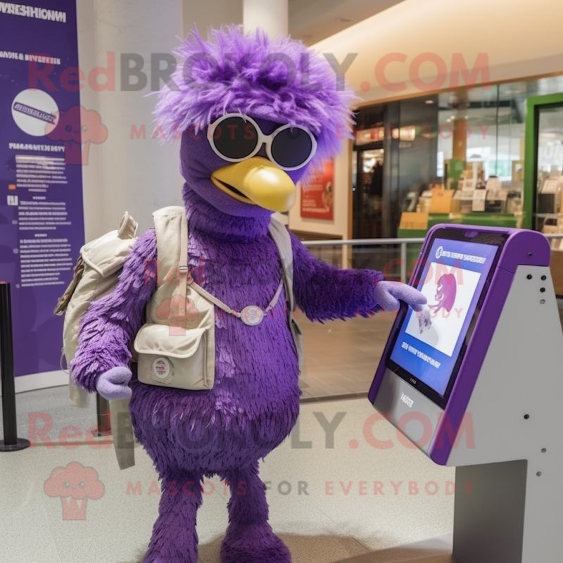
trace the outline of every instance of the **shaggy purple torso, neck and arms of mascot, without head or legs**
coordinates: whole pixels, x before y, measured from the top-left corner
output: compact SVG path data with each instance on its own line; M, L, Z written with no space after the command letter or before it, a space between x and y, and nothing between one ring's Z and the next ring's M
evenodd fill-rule
M269 218L227 217L184 189L189 217L189 264L210 293L236 310L266 307L281 277ZM379 272L338 270L308 253L292 237L294 293L308 317L327 320L376 310ZM153 230L127 260L118 289L91 305L72 363L78 384L94 390L95 377L127 365L129 345L141 327L155 288L147 264L156 258ZM216 308L215 387L182 391L132 381L130 410L139 441L158 472L189 467L200 474L244 467L288 436L298 415L298 360L286 321L282 291L261 324L248 327Z

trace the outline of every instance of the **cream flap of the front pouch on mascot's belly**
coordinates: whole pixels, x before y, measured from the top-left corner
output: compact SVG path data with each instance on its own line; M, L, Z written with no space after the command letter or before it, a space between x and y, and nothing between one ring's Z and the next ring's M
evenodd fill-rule
M139 354L189 358L199 348L206 329L179 329L168 324L145 324L137 333L133 348Z

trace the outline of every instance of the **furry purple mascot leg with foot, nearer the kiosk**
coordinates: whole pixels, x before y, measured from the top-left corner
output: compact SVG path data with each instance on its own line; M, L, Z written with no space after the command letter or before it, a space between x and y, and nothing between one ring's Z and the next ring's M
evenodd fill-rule
M289 550L268 524L266 487L258 476L258 462L221 477L231 489L222 563L291 563Z

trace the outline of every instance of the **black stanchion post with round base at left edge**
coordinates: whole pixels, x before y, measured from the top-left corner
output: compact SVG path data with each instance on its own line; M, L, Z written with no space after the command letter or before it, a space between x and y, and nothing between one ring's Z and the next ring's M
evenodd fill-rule
M30 441L18 438L13 373L12 303L10 284L6 281L0 281L0 377L4 422L4 440L0 440L0 452L24 450L29 447Z

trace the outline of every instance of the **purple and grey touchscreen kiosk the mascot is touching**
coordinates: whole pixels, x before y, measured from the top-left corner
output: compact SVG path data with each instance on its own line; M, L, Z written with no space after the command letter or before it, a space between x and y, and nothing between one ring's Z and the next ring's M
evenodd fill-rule
M437 464L456 469L460 563L551 563L563 480L563 334L550 245L533 231L437 225L369 400Z

